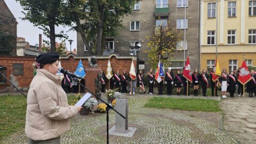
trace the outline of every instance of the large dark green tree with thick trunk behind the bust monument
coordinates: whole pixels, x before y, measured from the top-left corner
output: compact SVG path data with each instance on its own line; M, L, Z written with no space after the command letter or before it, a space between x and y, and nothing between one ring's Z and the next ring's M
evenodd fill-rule
M105 37L118 34L117 29L122 27L121 18L131 14L133 5L138 1L69 0L66 17L75 23L73 28L81 34L89 54L101 55ZM95 42L94 51L89 48L90 41Z

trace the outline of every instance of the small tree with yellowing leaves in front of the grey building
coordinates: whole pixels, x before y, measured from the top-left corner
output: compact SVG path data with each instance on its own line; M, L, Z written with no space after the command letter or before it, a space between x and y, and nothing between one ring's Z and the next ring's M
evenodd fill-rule
M165 67L170 65L168 59L172 59L176 46L181 41L180 36L179 30L167 23L159 23L155 26L155 34L146 37L149 51L145 52L148 53L148 62L152 67L157 66L159 57Z

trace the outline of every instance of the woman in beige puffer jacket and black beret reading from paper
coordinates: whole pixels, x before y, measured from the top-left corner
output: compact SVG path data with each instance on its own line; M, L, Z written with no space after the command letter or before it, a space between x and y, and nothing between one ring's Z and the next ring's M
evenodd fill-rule
M68 106L61 79L55 76L59 57L57 53L44 53L33 64L37 74L28 91L25 127L29 143L60 143L60 135L70 129L68 119L82 108Z

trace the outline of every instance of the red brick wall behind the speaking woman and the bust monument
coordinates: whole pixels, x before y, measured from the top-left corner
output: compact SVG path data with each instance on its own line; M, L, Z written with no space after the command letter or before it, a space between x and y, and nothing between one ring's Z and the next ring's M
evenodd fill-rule
M7 78L17 79L19 89L23 91L27 91L30 82L33 79L34 69L32 67L33 62L35 61L35 57L0 57L0 66L5 66L7 68ZM131 67L131 59L117 59L116 57L111 57L110 63L111 67L117 71L129 71ZM69 59L61 59L61 66L64 69L69 69L72 73L76 70L79 59L74 59L70 57ZM134 67L136 68L136 61L134 62ZM13 63L23 63L23 75L13 75ZM88 68L88 60L82 59L83 66ZM98 59L98 67L102 68L103 71L106 72L108 64L108 58L106 59ZM86 73L86 71L85 71ZM122 73L122 72L121 72ZM11 77L13 76L13 77ZM3 92L12 92L14 89L11 84L7 82L7 84L0 84L0 93Z

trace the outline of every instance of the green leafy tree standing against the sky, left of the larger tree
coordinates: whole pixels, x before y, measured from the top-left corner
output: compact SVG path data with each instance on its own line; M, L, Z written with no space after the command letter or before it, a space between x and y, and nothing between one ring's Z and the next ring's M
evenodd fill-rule
M50 38L51 52L56 52L55 38L67 38L63 31L55 34L55 26L70 25L61 11L65 0L16 0L20 2L25 14L23 20L28 20L34 26L42 29L44 35Z

